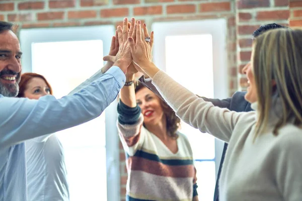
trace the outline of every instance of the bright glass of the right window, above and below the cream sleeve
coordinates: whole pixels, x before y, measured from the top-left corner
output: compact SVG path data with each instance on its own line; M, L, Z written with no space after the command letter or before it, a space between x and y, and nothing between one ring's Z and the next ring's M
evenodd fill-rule
M195 94L213 97L212 36L183 35L166 37L166 72ZM201 133L184 122L181 130L192 146L199 200L212 200L215 186L214 137Z

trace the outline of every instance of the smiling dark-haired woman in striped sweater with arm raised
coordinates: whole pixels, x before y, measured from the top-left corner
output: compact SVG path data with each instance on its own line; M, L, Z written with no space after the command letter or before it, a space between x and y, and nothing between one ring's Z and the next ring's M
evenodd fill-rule
M127 81L134 80L129 74ZM198 200L192 149L177 131L180 119L154 92L141 84L134 88L130 82L121 89L117 108L126 200Z

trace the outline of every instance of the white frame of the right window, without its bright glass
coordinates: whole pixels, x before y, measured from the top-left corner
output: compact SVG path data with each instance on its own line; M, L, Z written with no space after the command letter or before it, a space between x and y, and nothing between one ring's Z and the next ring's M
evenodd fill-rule
M196 21L155 22L152 24L155 33L153 47L154 63L166 71L165 38L175 35L211 34L213 41L213 89L214 98L229 97L228 60L226 56L226 20L209 19ZM198 58L193 58L201 62ZM202 94L198 94L201 95ZM223 150L223 142L215 139L215 172L216 178Z

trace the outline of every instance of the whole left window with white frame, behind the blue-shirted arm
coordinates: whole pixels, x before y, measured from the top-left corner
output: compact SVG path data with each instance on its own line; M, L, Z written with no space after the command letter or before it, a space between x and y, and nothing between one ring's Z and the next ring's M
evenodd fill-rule
M60 98L103 66L114 27L31 29L20 35L23 71L44 75ZM116 115L108 114L116 114L116 103L95 120L57 132L65 152L70 200L119 199L118 193L108 193L119 188L120 180Z

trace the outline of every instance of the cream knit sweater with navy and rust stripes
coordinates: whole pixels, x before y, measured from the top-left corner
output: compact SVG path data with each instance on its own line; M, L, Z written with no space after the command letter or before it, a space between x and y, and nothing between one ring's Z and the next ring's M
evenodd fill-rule
M178 133L172 153L143 127L140 108L118 104L118 131L126 154L126 200L192 200L197 195L196 169L190 143Z

